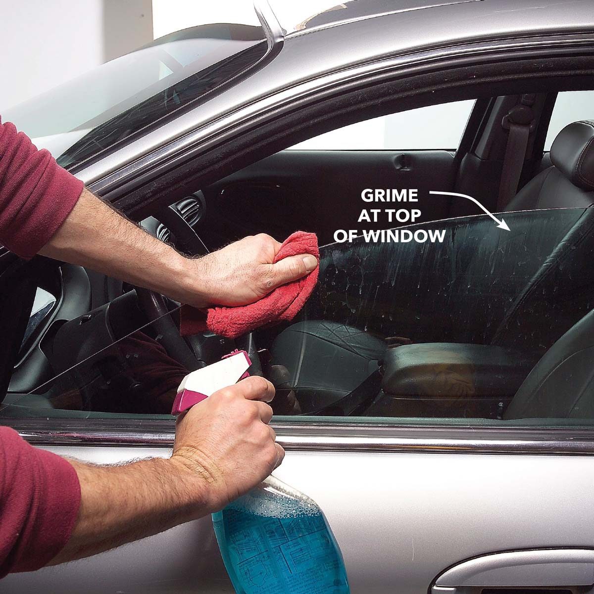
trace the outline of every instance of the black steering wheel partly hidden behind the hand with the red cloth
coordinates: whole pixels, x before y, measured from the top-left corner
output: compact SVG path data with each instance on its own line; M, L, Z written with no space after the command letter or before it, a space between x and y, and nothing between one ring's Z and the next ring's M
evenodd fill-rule
M175 206L163 208L155 217L169 232L175 236L176 247L191 255L208 254L208 249L203 244L197 233L188 225L187 221ZM152 232L152 229L147 229ZM154 233L152 233L154 235ZM252 332L244 334L235 340L226 339L214 334L182 337L179 328L171 315L172 309L177 307L177 302L149 289L136 287L139 307L149 320L153 328L161 336L161 344L169 355L184 365L188 371L209 365L221 359L234 349L243 349L247 352L252 365L250 375L263 375L262 364L257 352L256 343Z

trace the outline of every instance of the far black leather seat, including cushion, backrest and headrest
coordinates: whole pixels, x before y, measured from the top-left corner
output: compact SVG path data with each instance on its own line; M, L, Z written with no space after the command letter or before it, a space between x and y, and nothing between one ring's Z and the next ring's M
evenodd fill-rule
M574 122L563 128L552 144L551 162L553 165L526 184L505 210L585 208L594 204L594 122ZM594 215L594 210L589 214ZM565 260L575 259L573 246L576 242L583 242L583 237L589 234L592 228L590 219L591 216L585 217L579 225L568 230L562 241L553 241L553 251L544 264L539 258L533 258L536 266L530 273L533 277L526 286L517 287L518 298L506 309L495 333L494 344L514 345L522 321L526 323L528 320L532 324L530 316L539 315L538 311L532 312L530 304L543 300L543 286L546 286L545 281L551 278L555 267ZM462 282L468 285L475 282L473 279L484 276L483 261L473 258ZM511 280L508 279L508 282ZM567 330L590 307L592 305L584 301L580 307L574 308L573 318L565 320L560 317L564 327L561 325L548 333L557 331L557 334L538 337L533 333L533 341L539 343L541 349L548 348L556 336ZM547 328L542 331L546 333ZM273 361L288 368L291 385L299 390L304 412L327 406L362 384L377 368L385 350L383 340L359 328L321 320L301 321L290 326L276 337L271 348ZM304 400L307 401L305 406Z

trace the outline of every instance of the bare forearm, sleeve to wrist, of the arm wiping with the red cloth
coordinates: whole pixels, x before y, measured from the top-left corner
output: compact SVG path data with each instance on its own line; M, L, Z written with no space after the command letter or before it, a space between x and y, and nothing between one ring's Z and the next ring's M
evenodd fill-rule
M126 219L87 189L40 251L200 307L208 291L188 286L196 263ZM197 284L197 283L196 283Z

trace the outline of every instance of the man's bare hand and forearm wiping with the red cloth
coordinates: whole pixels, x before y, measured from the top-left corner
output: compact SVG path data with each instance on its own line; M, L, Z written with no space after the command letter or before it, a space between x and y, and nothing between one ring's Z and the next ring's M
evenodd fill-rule
M253 303L318 266L310 254L272 264L280 248L278 241L260 233L202 258L186 258L84 189L39 253L207 307Z

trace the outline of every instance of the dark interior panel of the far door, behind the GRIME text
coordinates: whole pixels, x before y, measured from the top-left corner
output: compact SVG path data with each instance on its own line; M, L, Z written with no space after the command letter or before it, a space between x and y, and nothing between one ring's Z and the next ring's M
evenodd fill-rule
M222 179L204 190L207 204L200 235L209 248L265 232L284 239L297 229L318 234L320 245L334 241L337 229L388 229L358 223L362 208L419 208L418 222L448 216L454 154L427 151L285 150ZM419 202L366 203L363 189L417 188Z

